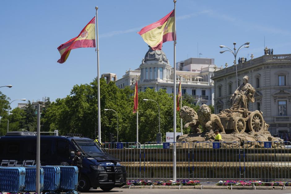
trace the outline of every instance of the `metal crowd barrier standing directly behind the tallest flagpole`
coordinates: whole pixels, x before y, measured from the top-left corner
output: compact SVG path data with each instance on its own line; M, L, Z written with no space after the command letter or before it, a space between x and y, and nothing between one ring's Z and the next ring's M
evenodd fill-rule
M189 180L188 142L145 142L142 146L144 180L165 182L173 179L173 146L176 146L177 180Z

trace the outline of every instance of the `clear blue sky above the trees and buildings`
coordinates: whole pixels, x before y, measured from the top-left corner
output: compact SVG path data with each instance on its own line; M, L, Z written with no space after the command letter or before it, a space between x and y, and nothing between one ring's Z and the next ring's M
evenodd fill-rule
M0 88L11 101L70 94L76 84L89 84L97 77L94 48L72 50L67 61L57 47L76 37L94 17L98 6L99 64L102 73L136 69L148 50L136 32L167 15L172 0L147 1L2 1L0 6ZM176 61L190 57L214 58L217 66L233 64L230 52L220 54L219 45L233 47L250 42L238 57L260 57L265 45L274 54L289 54L291 1L191 1L176 3ZM198 47L197 47L198 44ZM173 42L163 43L173 66ZM14 101L11 107L17 106Z

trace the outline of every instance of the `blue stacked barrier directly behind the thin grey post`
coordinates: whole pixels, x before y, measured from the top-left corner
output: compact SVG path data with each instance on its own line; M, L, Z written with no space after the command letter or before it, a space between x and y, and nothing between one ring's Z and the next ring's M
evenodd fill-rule
M43 169L40 168L40 192L43 191L44 186L44 172ZM26 167L25 168L25 188L26 192L34 192L36 191L36 167Z

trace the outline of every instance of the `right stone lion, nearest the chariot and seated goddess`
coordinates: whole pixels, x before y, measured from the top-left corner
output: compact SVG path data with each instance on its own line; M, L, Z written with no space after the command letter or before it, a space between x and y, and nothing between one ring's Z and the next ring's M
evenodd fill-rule
M220 118L216 114L211 114L211 110L206 104L202 104L198 110L198 121L204 132L214 131L217 128L216 126L218 126L221 132L225 134Z

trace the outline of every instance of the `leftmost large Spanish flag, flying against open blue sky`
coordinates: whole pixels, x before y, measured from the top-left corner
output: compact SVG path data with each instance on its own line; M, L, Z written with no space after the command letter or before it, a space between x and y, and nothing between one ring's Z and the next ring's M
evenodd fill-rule
M58 63L64 63L71 50L77 49L81 47L96 47L95 43L95 16L91 21L83 28L80 34L72 38L71 40L67 41L64 44L61 44L58 47L58 50L61 54L61 58L58 60Z

